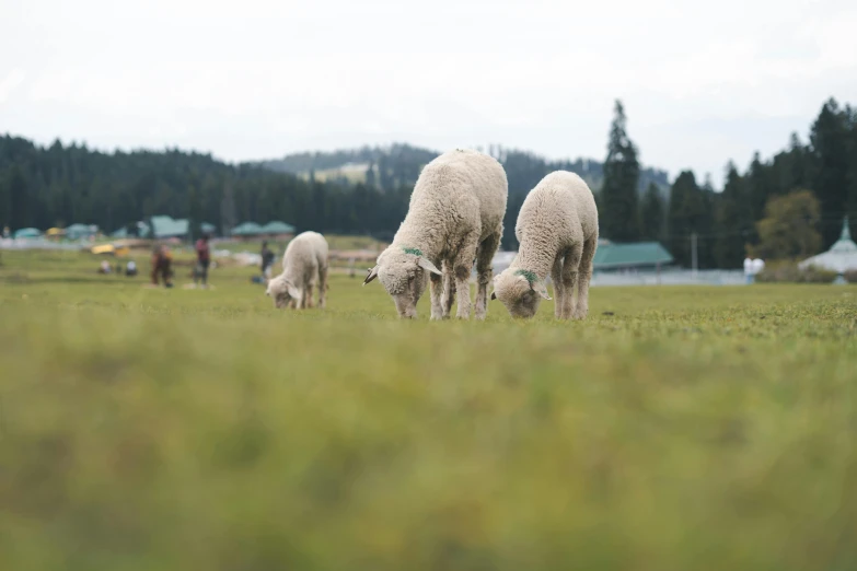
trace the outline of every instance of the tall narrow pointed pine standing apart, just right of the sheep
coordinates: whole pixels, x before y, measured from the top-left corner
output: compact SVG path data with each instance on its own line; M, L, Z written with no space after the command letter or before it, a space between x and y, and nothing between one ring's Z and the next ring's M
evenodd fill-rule
M626 132L625 109L616 101L610 129L604 183L601 187L601 234L615 242L633 242L639 237L637 185L639 184L637 150Z

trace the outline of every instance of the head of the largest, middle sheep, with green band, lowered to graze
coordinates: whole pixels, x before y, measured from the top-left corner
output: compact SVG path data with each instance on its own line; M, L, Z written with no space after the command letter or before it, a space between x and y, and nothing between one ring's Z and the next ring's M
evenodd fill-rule
M374 268L363 281L363 286L375 278L393 298L399 317L417 316L417 302L426 291L429 272L440 276L440 270L417 248L390 246L378 256Z

